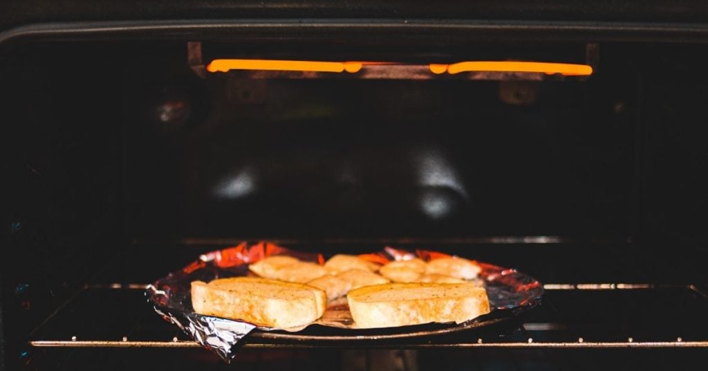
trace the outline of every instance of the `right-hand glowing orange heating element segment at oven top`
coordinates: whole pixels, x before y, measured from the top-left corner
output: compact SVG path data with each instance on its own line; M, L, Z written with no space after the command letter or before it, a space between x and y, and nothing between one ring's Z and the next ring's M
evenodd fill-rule
M445 65L430 65L430 72L441 74ZM572 63L552 62L459 62L447 65L447 73L460 72L541 72L544 74L564 74L566 76L589 76L593 74L593 67L589 65L576 65Z

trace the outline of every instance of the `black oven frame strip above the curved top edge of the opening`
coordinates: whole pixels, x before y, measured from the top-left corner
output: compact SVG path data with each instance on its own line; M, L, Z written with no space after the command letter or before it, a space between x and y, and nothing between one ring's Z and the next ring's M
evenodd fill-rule
M212 1L4 1L1 28L28 23L209 18L418 18L523 21L621 21L699 23L708 16L701 0L212 0Z

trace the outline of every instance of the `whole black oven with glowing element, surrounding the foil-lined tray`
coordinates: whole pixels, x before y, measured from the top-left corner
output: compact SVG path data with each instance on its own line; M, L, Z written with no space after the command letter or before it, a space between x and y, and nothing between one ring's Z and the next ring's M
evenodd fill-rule
M706 12L698 1L1 5L0 367L702 364ZM253 336L227 365L144 292L242 240L440 250L517 268L544 296L445 336Z

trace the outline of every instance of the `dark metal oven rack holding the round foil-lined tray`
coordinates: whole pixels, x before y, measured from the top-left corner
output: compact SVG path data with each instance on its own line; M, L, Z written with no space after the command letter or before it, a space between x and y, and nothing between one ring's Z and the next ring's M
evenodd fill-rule
M30 336L33 348L200 348L144 299L145 284L87 285ZM367 342L273 341L244 348L708 348L708 295L692 284L544 284L544 301L493 331ZM90 314L90 315L89 315Z

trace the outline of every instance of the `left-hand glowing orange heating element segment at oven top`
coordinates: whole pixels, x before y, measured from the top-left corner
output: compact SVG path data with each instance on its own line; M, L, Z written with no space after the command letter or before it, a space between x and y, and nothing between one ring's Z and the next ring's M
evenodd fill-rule
M209 72L229 70L307 71L307 72L358 72L362 62L314 62L308 60L212 60Z

